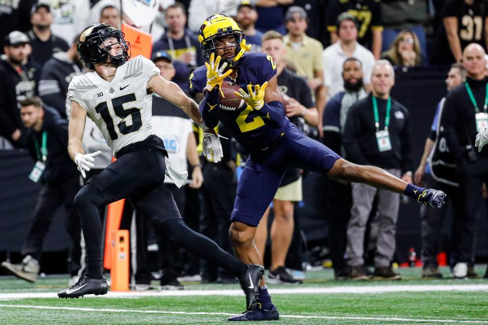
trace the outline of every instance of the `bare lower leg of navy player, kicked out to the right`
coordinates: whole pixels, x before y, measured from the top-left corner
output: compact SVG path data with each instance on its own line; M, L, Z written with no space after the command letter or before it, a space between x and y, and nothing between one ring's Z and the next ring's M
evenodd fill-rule
M332 179L353 183L368 184L376 188L404 193L408 183L374 166L352 164L345 159L338 159L327 173Z

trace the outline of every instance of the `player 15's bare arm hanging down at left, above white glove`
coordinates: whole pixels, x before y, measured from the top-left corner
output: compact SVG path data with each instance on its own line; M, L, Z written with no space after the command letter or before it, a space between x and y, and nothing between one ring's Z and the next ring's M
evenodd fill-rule
M77 102L71 102L71 118L68 126L68 153L74 161L77 153L85 153L83 133L85 131L86 111Z

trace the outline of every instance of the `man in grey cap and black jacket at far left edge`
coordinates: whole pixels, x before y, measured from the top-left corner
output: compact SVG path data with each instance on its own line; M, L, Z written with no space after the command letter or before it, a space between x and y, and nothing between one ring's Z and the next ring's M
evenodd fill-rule
M12 31L4 40L5 59L0 59L0 136L14 147L25 147L25 128L20 119L18 102L34 95L35 82L23 66L29 39Z

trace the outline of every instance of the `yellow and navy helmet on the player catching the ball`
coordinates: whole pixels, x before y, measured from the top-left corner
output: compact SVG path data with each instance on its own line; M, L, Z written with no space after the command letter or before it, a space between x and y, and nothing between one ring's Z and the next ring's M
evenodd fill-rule
M226 44L220 44L220 42L216 44L216 41L224 37L233 37L234 40L228 41ZM225 51L229 48L235 48L235 55L233 57L222 58L230 66L235 66L242 55L251 49L251 45L246 44L242 28L240 28L234 19L226 15L216 14L205 19L198 32L198 41L200 42L202 55L207 60L217 50Z

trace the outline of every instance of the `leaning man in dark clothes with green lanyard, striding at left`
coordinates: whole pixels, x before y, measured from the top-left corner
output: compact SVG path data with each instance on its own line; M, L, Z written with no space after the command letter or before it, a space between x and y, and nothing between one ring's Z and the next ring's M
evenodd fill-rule
M29 178L42 184L34 211L34 220L22 246L23 261L18 264L3 262L2 266L17 277L35 282L39 273L42 244L49 230L54 212L64 204L65 223L72 241L70 274L76 277L81 259L81 223L74 207L74 198L80 189L76 166L71 163L68 147L68 122L56 110L43 107L38 96L20 102L20 115L27 128L27 147L36 160ZM72 279L73 281L74 279Z

